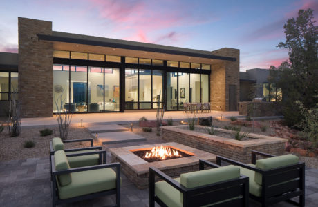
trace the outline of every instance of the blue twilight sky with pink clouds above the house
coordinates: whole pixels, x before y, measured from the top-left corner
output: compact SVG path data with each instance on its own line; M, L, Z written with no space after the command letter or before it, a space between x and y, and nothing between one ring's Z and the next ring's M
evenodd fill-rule
M283 25L315 0L1 0L0 51L17 52L17 17L53 22L53 30L198 50L238 48L241 71L279 66ZM317 23L316 23L317 24Z

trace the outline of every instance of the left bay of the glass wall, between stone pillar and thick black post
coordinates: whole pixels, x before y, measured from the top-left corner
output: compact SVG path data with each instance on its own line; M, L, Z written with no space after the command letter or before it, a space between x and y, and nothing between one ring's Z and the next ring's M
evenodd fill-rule
M70 77L71 75L71 77ZM119 69L93 66L53 66L53 95L68 112L119 110ZM57 106L53 103L53 112Z

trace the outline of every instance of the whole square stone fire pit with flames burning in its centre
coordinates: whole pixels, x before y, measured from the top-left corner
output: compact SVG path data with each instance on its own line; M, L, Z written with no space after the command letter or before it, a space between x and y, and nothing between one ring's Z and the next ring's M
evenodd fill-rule
M140 189L149 186L149 167L151 166L162 170L171 177L179 177L182 173L197 171L199 159L213 162L216 160L214 154L175 142L111 148L110 151L111 160L120 162L124 175ZM147 158L150 153L157 157ZM171 155L171 157L160 156L165 154Z

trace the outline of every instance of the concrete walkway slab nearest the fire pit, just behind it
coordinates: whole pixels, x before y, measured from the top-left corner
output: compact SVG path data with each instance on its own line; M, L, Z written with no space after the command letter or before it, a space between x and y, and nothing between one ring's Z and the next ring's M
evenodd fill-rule
M95 137L95 133L92 135ZM102 142L102 144L115 144L130 141L146 141L146 138L136 135L130 131L103 132L98 133L98 141Z

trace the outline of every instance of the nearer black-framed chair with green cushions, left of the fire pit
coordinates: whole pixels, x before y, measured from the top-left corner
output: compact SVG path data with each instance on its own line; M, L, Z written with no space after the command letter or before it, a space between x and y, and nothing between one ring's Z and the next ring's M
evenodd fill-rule
M120 206L119 163L70 168L66 156L64 150L51 156L53 207L111 194Z

